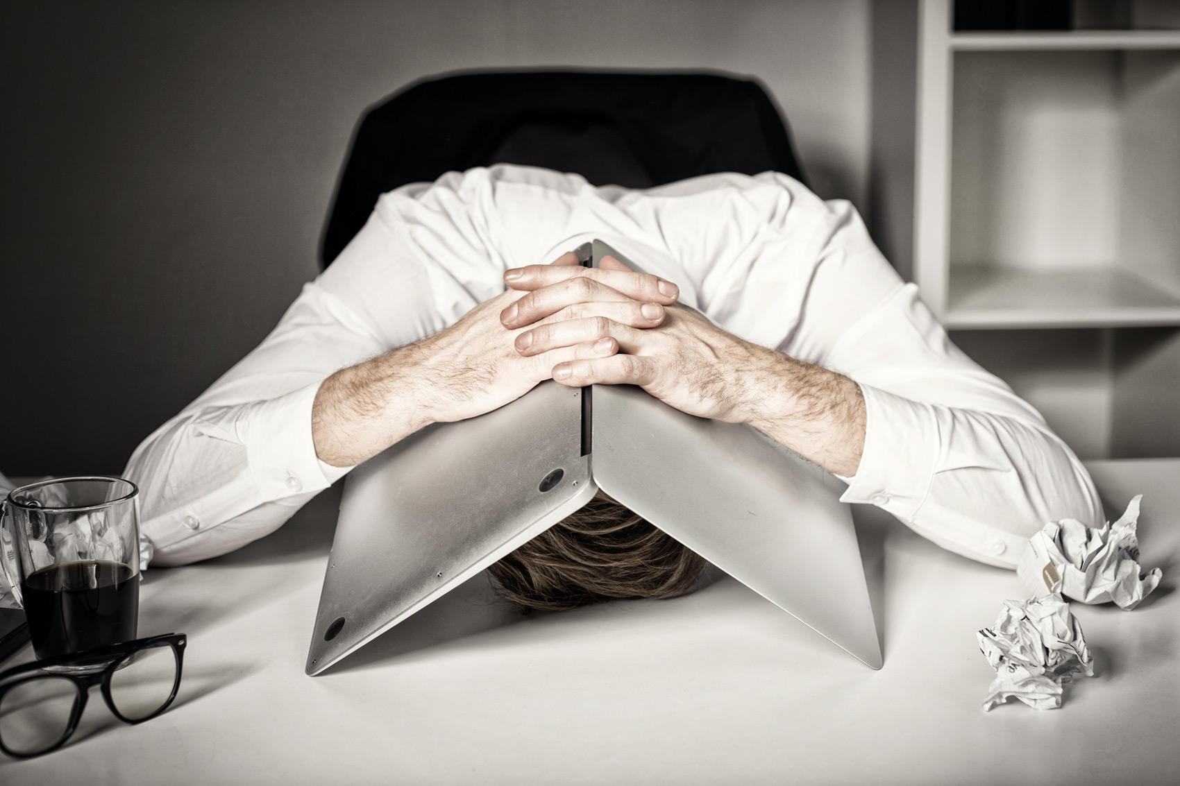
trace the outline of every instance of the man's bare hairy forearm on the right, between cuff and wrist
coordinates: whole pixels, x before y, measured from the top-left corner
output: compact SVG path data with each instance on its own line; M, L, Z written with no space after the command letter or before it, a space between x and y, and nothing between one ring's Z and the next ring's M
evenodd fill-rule
M753 351L746 423L830 472L853 476L865 447L865 399L847 376L772 349Z

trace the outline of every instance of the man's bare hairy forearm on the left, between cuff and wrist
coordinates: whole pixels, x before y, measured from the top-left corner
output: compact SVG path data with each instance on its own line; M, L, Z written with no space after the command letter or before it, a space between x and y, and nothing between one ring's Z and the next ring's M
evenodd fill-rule
M312 407L312 439L321 460L360 464L431 423L414 355L415 347L402 347L323 381Z

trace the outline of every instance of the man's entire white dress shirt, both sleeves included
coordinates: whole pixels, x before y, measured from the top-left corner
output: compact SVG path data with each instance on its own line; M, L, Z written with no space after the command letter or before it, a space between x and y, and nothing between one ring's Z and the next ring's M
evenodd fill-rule
M860 386L865 446L844 502L1007 568L1048 520L1101 523L1074 453L950 342L847 202L772 172L635 191L500 165L384 195L274 332L144 440L125 474L153 561L212 557L281 526L348 471L313 446L323 379L454 323L504 290L507 268L594 237L723 329Z

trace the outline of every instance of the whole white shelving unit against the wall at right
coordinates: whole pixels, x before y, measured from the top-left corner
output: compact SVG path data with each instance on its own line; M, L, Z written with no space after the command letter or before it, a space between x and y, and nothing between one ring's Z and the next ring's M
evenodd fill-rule
M913 277L1086 458L1180 454L1180 31L918 0Z

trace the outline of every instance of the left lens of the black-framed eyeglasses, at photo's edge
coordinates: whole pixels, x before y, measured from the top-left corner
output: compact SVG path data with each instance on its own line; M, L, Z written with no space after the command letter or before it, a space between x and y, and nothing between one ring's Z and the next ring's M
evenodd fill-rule
M17 754L40 753L66 733L78 687L65 677L22 682L0 699L0 740Z

